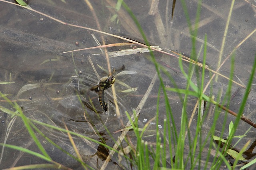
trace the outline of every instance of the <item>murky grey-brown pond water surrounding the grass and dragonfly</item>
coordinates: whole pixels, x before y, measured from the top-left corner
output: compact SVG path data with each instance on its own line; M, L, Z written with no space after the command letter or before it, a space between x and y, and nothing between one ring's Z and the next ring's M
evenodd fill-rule
M50 1L49 3L33 1L29 3L33 9L64 22L98 30L96 21L84 1L67 1L66 3L61 1ZM115 1L112 2L106 0L103 3L91 3L96 10L96 15L102 31L142 39L135 24L124 9L121 8L117 13L118 18L116 18L114 22L110 21L116 12L109 6L115 6ZM156 16L148 15L150 3L151 2L140 1L128 2L128 6L132 9L136 17L138 17L149 42L160 45L162 48L173 49L174 51L177 50L182 53L190 54L190 33L180 2L176 3L173 20L170 20L172 2L169 2L168 4L167 13L167 5L165 2L160 2L158 7L160 16L158 16L158 14L156 14ZM194 24L197 6L196 1L188 2L186 5L192 24ZM256 29L255 5L255 2L253 1L252 5L244 1L235 3L226 37L226 44L224 46L223 58L228 56L236 45ZM217 66L229 8L230 2L219 0L204 2L202 4L197 36L197 52L203 43L204 35L207 34L208 47L206 62L209 67L214 70ZM128 111L131 115L132 109L138 107L138 104L156 73L154 65L148 59L149 54L138 53L110 58L111 69L119 68L123 64L125 65L124 72L121 72L123 74L116 75L116 82L114 83L117 103L121 115L119 118L118 115L116 115L116 106L114 104L111 89L105 91L108 112L99 113L97 115L90 109L90 106L94 106L98 112L104 112L104 110L98 102L97 93L90 91L89 89L97 84L99 80L97 74L100 77L108 75L108 73L100 68L108 68L106 57L104 55L93 55L101 53L99 49L74 52L73 57L71 53L60 53L73 49L97 46L97 43L92 38L92 34L94 34L98 41L102 43L101 35L92 31L60 24L50 18L46 18L35 12L5 2L0 2L0 16L0 78L1 81L15 82L8 85L0 85L0 91L7 94L10 100L17 101L17 103L23 107L25 115L32 119L61 128L64 128L65 123L69 130L78 132L98 141L103 141L99 139L99 135L95 134L95 131L99 131L106 144L113 146L113 138L114 140L117 140L118 136L121 134L120 132L114 133L116 130L122 128L120 120L122 120L124 124L128 122L124 112ZM110 36L104 36L104 40L106 41L106 44L123 42ZM252 68L252 62L256 52L255 41L256 34L253 34L236 50L234 74L237 75L244 84L247 83ZM76 42L78 42L79 45L76 45ZM131 48L132 47L130 46L122 46L111 47L108 50L118 51ZM160 64L172 75L178 87L185 89L186 80L184 76L182 76L182 73L179 72L178 59L156 52L154 52L154 54ZM90 57L92 61L91 63L89 62L88 57ZM199 56L199 59L202 60L202 53ZM100 67L98 67L98 65ZM93 67L95 67L95 71ZM188 64L184 63L184 67L185 69L188 69ZM81 71L80 74L78 74L79 71ZM130 71L128 72L129 74L127 71ZM220 73L229 77L230 59L226 61L220 69ZM74 75L78 75L78 77L71 77ZM166 87L174 87L174 85L170 83L168 77L164 74L162 76ZM210 77L211 74L207 71L206 80ZM197 83L196 76L192 79L194 83ZM239 82L236 77L234 77L234 80ZM227 84L228 81L226 79L219 77L218 82L212 85L212 90L208 88L205 94L217 96L222 86L223 93L225 93ZM124 90L131 88L138 89L133 92L123 92ZM139 125L141 127L156 114L158 88L159 81L156 80L146 103L140 111ZM238 86L234 85L232 87L232 93L236 91L237 88ZM80 93L81 91L83 91L82 94ZM230 104L230 109L232 111L238 112L244 91L244 89L240 89L238 94L232 99ZM82 105L77 94L80 95L82 103L86 103L86 106ZM248 116L253 122L256 122L254 114L256 104L255 96L255 87L252 86L244 115ZM30 100L30 97L32 97L32 100ZM182 102L176 93L168 92L168 97L172 106L174 119L177 122L176 127L179 127ZM92 101L90 101L90 99L92 99ZM195 103L196 98L190 97L187 108L188 115L191 115ZM10 108L5 101L1 101L0 105ZM166 118L166 108L162 94L160 96L159 111L159 125L163 126L163 120ZM0 114L0 121L2 121L0 124L2 129L0 130L1 142L3 143L6 138L6 143L8 144L14 144L37 151L37 147L32 138L30 138L30 135L26 131L26 128L19 117L15 119L10 134L6 137L8 124L13 117L6 115L3 112ZM86 115L87 120L85 120L84 115ZM224 114L221 115L221 117L222 116L224 117ZM211 120L212 116L209 116L206 123L203 125L206 133L211 126ZM222 120L222 118L220 118L220 120ZM231 120L234 121L235 117L228 116L227 122L229 123ZM155 122L156 121L154 120L150 124L148 134L155 134ZM228 127L228 123L226 127ZM221 131L222 124L223 122L220 121L220 126L217 126L219 128L216 129L217 133L218 131ZM104 125L108 128L113 138L109 136ZM64 132L40 125L37 125L37 127L51 140L56 142L56 144L75 155L68 136ZM248 127L247 124L241 123L240 129L238 130L238 132L241 133L239 135L242 135ZM153 132L151 131L152 129ZM193 125L190 129L193 133ZM160 128L160 130L162 129ZM227 132L228 130L225 130L224 136L228 135ZM133 135L132 132L129 132L129 134ZM205 134L203 134L203 136L204 135ZM104 162L104 158L99 154L102 152L102 148L93 142L86 141L76 136L73 137L84 161L92 166L92 168L100 168ZM38 138L54 161L70 168L81 168L76 160L59 151L39 134ZM254 140L254 138L255 133L251 132L250 137L246 137L243 140ZM134 137L131 137L131 139L134 140L133 142L136 142ZM145 137L144 140L155 142L155 136ZM125 142L123 144L123 147L125 147ZM172 156L166 155L166 157L171 158ZM35 158L34 156L5 148L1 166L3 168L21 166L26 165L28 161L31 164L44 163L44 161ZM108 168L119 167L113 162L118 162L117 156L112 158L112 163L108 165ZM124 166L129 168L129 165Z

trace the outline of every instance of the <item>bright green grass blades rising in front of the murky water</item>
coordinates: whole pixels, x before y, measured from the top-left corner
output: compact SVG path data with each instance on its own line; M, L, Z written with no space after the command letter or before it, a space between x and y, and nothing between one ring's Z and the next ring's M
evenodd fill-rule
M120 1L118 1L118 2L120 3ZM192 59L194 59L195 61L197 61L197 58L196 58L196 36L197 36L197 31L198 31L198 29L197 29L198 22L200 19L201 3L202 3L202 1L198 2L197 12L196 12L196 24L195 24L195 28L193 29L190 18L189 18L189 14L188 14L188 11L186 8L186 3L184 0L182 0L182 6L184 9L184 13L186 15L190 34L192 37L191 56L192 56ZM130 14L131 18L136 23L136 26L138 27L142 37L144 38L144 41L146 42L146 44L148 45L148 48L150 49L146 35L144 34L144 32L140 26L140 23L136 19L135 15L132 13L132 10L130 10L130 8L124 2L122 2L122 6L126 9L126 11ZM22 118L22 121L23 121L24 125L26 126L26 129L28 130L28 132L29 132L30 136L32 137L32 139L34 140L36 146L39 148L40 152L42 152L42 153L37 153L37 152L28 150L28 149L20 147L20 146L14 146L14 145L10 145L10 144L1 144L1 145L15 149L15 150L20 150L22 152L26 152L28 154L31 154L33 156L36 156L38 158L41 158L41 159L49 162L49 164L38 164L38 165L35 164L32 166L26 166L23 168L68 169L68 167L61 165L61 164L55 162L54 160L52 160L52 158L48 155L47 151L45 150L44 146L42 146L40 140L38 140L38 137L35 134L35 132L37 132L38 134L43 136L45 139L47 139L51 144L53 144L56 148L60 149L64 153L66 153L71 158L77 160L78 163L80 163L85 169L87 169L87 168L93 169L93 168L83 162L78 150L76 150L75 141L73 141L71 134L74 136L79 136L81 138L85 138L94 143L100 144L100 145L108 148L112 152L118 153L118 156L122 155L126 159L127 164L130 163L133 166L136 166L136 168L138 168L140 170L144 170L144 169L163 169L164 170L164 169L168 169L168 168L173 168L173 169L185 169L185 168L219 169L220 166L223 165L223 162L228 167L228 169L234 169L236 164L238 163L238 158L242 155L242 152L246 150L248 143L246 143L244 145L241 152L237 155L238 158L234 161L233 166L230 165L230 163L226 160L225 156L227 155L227 151L230 148L229 146L230 146L232 139L234 137L234 134L238 128L240 117L242 117L242 114L243 114L243 111L245 108L245 104L248 99L252 80L254 79L254 73L255 73L255 69L256 69L256 59L253 63L253 67L252 67L251 75L250 75L248 85L246 88L246 92L244 94L244 98L242 100L242 104L240 106L236 120L234 122L234 127L232 128L232 130L228 136L228 140L224 144L224 146L221 146L220 142L218 143L218 145L216 145L214 140L212 139L212 135L215 134L217 121L219 119L220 114L222 114L222 113L220 113L220 110L223 109L224 104L228 103L227 105L229 105L229 101L230 101L230 97L231 97L232 78L233 78L233 73L234 73L234 57L232 57L232 62L231 62L230 77L229 77L230 81L228 83L228 88L227 88L226 94L224 96L224 100L222 101L222 105L220 105L219 103L220 103L221 96L218 96L217 100L214 101L214 99L212 99L211 97L204 94L204 75L205 75L205 70L206 70L204 66L205 66L206 55L207 55L207 45L206 44L207 44L207 35L205 35L205 38L204 38L204 53L203 53L203 64L202 64L203 67L202 67L202 75L201 76L199 75L198 67L195 67L195 65L192 63L190 63L188 71L186 73L186 71L184 70L184 67L183 67L181 56L179 58L180 70L187 81L185 89L179 89L176 86L176 83L174 82L170 73L168 73L166 71L166 69L164 69L156 61L156 59L154 57L154 53L152 53L152 50L150 49L151 61L155 65L156 74L158 76L158 79L160 80L160 85L158 87L159 90L158 90L157 103L156 103L156 129L155 129L156 130L156 133L155 133L156 139L155 139L154 146L152 146L152 144L149 144L149 142L145 141L143 138L148 124L146 124L143 128L139 128L138 119L137 119L137 117L139 115L139 111L138 111L138 113L136 111L134 111L132 117L130 116L130 114L128 112L126 112L126 116L128 117L128 119L130 121L130 125L132 126L132 130L134 131L134 134L136 136L135 148L133 148L132 144L129 142L129 139L125 138L125 141L127 142L128 146L130 147L130 152L127 153L125 151L124 147L120 146L119 147L120 150L117 150L116 148L114 148L112 146L108 146L104 142L99 142L98 140L95 140L88 136L84 136L84 135L78 134L76 132L73 132L71 130L68 130L67 128L64 129L64 128L60 128L60 127L55 127L55 126L52 126L52 125L49 125L46 123L42 123L40 121L30 119L23 114L22 109L20 109L20 107L18 106L17 103L12 103L11 101L9 101L7 99L7 97L5 95L0 93L1 97L3 97L6 101L9 101L10 105L12 105L12 107L16 109L16 112L11 111L4 107L0 107L0 109L6 113L9 113L11 115L17 115ZM256 58L256 56L255 56L255 58ZM72 54L72 59L74 59L73 54ZM76 73L77 73L77 69L76 69ZM166 75L169 78L169 81L174 84L174 88L165 87L164 81L162 78L163 74ZM192 76L194 74L196 74L196 76L200 79L200 81L198 80L198 82L197 82L198 86L196 86L192 81ZM180 100L182 103L182 113L181 113L180 122L176 122L174 119L174 114L172 113L172 108L171 108L170 101L169 101L169 98L167 95L167 91L172 91L172 92L178 93L178 95L180 97ZM166 119L164 120L163 132L161 132L161 130L158 128L161 93L164 94L164 101L165 101L165 107L166 107ZM212 104L220 107L220 109L216 109L216 111L214 113L214 117L212 120L212 126L210 127L210 130L207 133L205 139L203 139L203 137L202 137L202 125L204 124L204 121L206 120L206 114L204 114L204 115L198 114L198 117L196 119L195 131L192 132L192 130L190 130L189 121L188 121L189 116L188 116L188 112L187 112L189 96L197 97L199 106L202 105L202 102L204 100L204 101L207 101L208 103L212 103ZM80 100L80 102L82 103L81 100ZM201 109L202 109L201 107L198 107L198 113L201 112ZM209 104L208 104L208 106L206 106L206 111L208 109L209 109ZM224 138L224 132L226 131L225 125L226 125L226 123L228 123L227 122L227 117L229 116L228 110L225 110L224 114L225 114L225 117L224 117L224 121L223 121L224 123L223 123L222 131L220 133L220 138ZM78 158L76 158L76 156L73 156L72 154L70 154L69 152L67 152L60 146L58 146L56 143L54 143L52 140L50 140L50 138L48 138L34 124L42 125L44 127L49 127L49 128L67 133L70 137L70 141L72 142L72 144L74 146L74 150L76 150L76 154L77 154ZM179 126L179 128L177 128L178 126ZM109 133L111 138L114 140L114 138L108 131L107 127L104 126L104 128ZM99 134L97 129L95 129L95 130L96 130L96 133ZM124 131L128 132L128 130L124 130ZM121 143L120 140L121 139L118 139L117 142ZM119 146L119 144L118 144L118 146ZM202 155L202 152L206 148L206 146L208 148L208 152L207 152L206 158L204 158ZM186 150L185 150L185 148L186 148ZM212 155L211 151L213 150L213 148L216 150L216 153L215 153L214 157L212 158L212 161L209 162L211 159L211 155ZM130 154L130 157L126 156L126 154L124 154L124 153L126 153L127 155ZM120 167L122 167L121 163L120 163ZM104 169L104 168L106 168L106 166L104 166L102 169Z

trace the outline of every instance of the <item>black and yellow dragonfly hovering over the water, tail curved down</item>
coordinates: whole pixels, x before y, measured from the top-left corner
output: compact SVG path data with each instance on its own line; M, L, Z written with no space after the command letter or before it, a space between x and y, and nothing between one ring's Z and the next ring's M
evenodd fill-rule
M105 76L100 79L98 84L91 88L91 90L98 93L98 99L100 102L101 107L104 109L104 111L108 110L107 104L105 102L105 92L104 90L108 89L113 85L116 78L113 75Z

